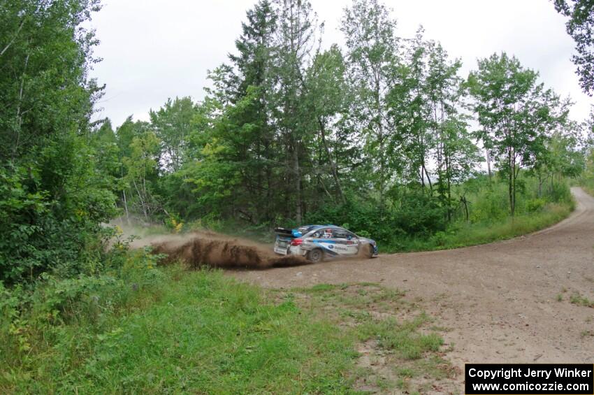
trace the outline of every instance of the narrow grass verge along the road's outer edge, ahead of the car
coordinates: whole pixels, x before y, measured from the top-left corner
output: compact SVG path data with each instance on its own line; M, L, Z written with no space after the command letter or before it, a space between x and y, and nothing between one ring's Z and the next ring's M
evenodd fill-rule
M537 213L516 215L501 222L456 224L448 231L437 232L428 238L408 238L399 245L379 245L380 252L416 252L449 250L507 240L550 227L567 218L574 203L548 203Z

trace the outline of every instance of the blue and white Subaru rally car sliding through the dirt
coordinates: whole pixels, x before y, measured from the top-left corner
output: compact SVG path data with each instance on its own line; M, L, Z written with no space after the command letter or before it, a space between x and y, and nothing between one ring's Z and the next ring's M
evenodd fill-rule
M314 263L333 257L377 257L377 244L335 225L305 225L297 229L276 228L274 250L294 254Z

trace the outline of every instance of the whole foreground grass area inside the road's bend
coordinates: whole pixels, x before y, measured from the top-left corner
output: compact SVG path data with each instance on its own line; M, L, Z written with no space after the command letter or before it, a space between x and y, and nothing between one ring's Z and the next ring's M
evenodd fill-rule
M89 289L53 319L36 317L35 304L13 317L0 331L0 393L356 394L361 382L421 391L455 373L430 317L402 292L266 290L222 271L151 271L152 287L130 280ZM388 356L388 377L359 363L365 342Z

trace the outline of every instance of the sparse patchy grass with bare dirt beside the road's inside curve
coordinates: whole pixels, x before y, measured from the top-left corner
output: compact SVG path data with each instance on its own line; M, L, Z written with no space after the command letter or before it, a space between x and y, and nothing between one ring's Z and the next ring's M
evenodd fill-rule
M426 393L435 383L457 388L452 379L458 372L443 357L453 345L444 347L439 327L404 299L404 292L373 283L316 285L282 292L309 315L325 317L354 336L364 358L357 361L361 373L355 388L392 393Z

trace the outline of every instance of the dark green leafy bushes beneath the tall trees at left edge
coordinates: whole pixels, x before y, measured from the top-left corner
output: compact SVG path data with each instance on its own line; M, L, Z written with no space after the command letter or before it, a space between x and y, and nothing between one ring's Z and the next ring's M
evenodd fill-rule
M0 167L0 281L7 284L47 271L82 273L98 259L100 223L114 213L106 190L89 187L58 201L41 182L35 169Z

